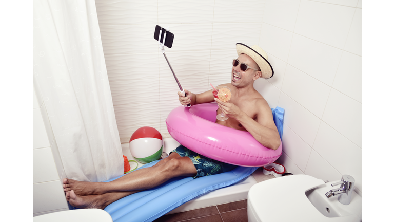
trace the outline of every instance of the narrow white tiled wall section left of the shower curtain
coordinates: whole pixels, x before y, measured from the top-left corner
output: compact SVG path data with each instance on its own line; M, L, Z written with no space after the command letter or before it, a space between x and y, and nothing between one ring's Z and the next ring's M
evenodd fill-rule
M69 210L61 182L65 177L40 87L33 80L33 216Z

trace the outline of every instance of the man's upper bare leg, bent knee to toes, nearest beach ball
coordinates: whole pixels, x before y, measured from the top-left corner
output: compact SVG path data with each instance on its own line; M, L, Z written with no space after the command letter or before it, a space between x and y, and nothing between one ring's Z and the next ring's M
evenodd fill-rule
M190 158L180 157L177 153L171 153L159 163L150 168L133 171L111 182L81 182L64 179L63 188L66 192L73 190L76 195L145 190L159 186L174 177L195 176L197 173Z

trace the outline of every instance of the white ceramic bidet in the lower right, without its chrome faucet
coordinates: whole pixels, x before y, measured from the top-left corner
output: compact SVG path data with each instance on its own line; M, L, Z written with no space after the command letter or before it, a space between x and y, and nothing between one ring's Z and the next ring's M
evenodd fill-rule
M349 205L327 198L331 183L291 175L254 184L248 193L248 221L361 222L361 197L353 193Z

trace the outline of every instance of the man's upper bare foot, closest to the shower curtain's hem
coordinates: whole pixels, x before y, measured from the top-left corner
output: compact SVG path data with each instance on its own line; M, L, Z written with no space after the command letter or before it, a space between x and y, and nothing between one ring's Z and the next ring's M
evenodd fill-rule
M100 182L82 182L64 178L63 188L66 193L73 190L76 195L80 196L103 194L100 192Z

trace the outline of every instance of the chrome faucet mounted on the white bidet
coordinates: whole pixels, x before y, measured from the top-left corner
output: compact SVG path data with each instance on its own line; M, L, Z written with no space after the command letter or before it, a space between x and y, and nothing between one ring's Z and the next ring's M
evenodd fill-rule
M338 196L338 201L343 205L350 204L351 194L354 189L354 178L349 175L342 175L340 182L331 184L332 187L341 185L338 189L330 190L326 193L326 197Z

